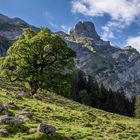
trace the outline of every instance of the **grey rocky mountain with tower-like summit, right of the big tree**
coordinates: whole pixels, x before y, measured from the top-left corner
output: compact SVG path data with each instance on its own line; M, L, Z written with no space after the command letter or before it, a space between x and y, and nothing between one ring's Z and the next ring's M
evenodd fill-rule
M77 52L77 67L94 76L99 84L113 91L124 90L127 97L140 94L140 54L103 41L91 22L79 22L70 34L59 34Z

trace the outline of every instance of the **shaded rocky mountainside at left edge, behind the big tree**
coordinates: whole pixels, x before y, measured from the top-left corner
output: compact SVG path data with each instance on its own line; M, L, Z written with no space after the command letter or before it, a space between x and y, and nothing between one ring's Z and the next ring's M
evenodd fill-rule
M6 55L7 49L16 37L22 34L24 28L38 30L20 18L9 18L0 14L0 56Z

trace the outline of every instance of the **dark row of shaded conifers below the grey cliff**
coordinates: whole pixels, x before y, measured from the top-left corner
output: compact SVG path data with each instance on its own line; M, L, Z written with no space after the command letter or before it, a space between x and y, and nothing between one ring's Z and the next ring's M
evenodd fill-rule
M86 76L81 70L77 70L73 75L70 98L112 113L135 115L135 98L126 98L123 90L113 92L105 89L103 85L99 86L92 76Z

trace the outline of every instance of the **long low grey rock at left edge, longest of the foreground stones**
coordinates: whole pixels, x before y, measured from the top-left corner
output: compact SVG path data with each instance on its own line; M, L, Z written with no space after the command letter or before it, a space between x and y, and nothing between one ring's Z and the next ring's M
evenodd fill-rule
M12 116L7 116L4 115L0 117L0 124L21 124L23 122L22 118L20 117L12 117Z

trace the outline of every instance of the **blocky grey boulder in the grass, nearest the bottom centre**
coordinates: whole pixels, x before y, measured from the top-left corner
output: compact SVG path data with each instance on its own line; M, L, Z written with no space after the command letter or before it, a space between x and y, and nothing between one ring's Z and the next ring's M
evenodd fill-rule
M56 134L56 128L54 126L44 123L38 125L37 131L46 133L49 136L55 136Z

